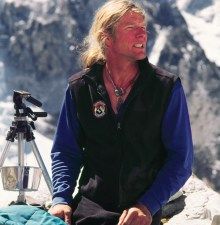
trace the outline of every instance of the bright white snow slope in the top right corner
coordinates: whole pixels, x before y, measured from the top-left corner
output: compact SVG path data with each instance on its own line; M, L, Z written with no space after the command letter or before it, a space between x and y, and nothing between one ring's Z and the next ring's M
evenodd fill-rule
M204 49L210 61L220 66L220 1L204 8L195 15L186 12L189 1L177 1L189 31Z

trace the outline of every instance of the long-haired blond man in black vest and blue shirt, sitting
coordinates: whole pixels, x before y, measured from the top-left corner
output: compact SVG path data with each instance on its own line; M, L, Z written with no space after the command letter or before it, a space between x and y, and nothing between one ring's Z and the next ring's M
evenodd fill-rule
M191 175L180 79L148 62L146 15L130 0L107 1L86 40L86 69L70 79L52 149L50 213L68 224L159 225Z

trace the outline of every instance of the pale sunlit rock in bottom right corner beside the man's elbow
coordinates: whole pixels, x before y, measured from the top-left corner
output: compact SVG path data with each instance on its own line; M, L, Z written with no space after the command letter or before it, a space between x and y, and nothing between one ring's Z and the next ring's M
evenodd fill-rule
M185 199L180 197L174 200L175 204L172 202L167 204L170 212L175 212L180 206L182 211L177 210L177 213L171 216L164 215L167 219L164 224L210 225L212 220L215 221L214 224L217 223L220 216L220 195L217 192L193 175L183 187L183 196Z

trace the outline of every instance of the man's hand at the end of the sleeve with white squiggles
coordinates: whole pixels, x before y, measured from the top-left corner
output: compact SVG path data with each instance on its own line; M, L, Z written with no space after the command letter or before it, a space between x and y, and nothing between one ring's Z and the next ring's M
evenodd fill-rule
M71 225L72 209L69 205L57 204L52 206L48 212L63 219L66 224Z

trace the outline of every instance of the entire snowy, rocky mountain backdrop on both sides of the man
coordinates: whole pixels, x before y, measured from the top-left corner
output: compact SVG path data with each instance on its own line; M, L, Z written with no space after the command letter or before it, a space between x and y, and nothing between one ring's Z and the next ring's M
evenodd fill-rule
M0 1L0 101L29 91L51 116L52 137L68 77L101 0ZM148 18L150 62L180 75L195 146L194 171L220 191L219 0L140 1ZM4 111L0 118L5 120ZM4 127L5 125L2 125ZM2 130L3 128L1 128Z

